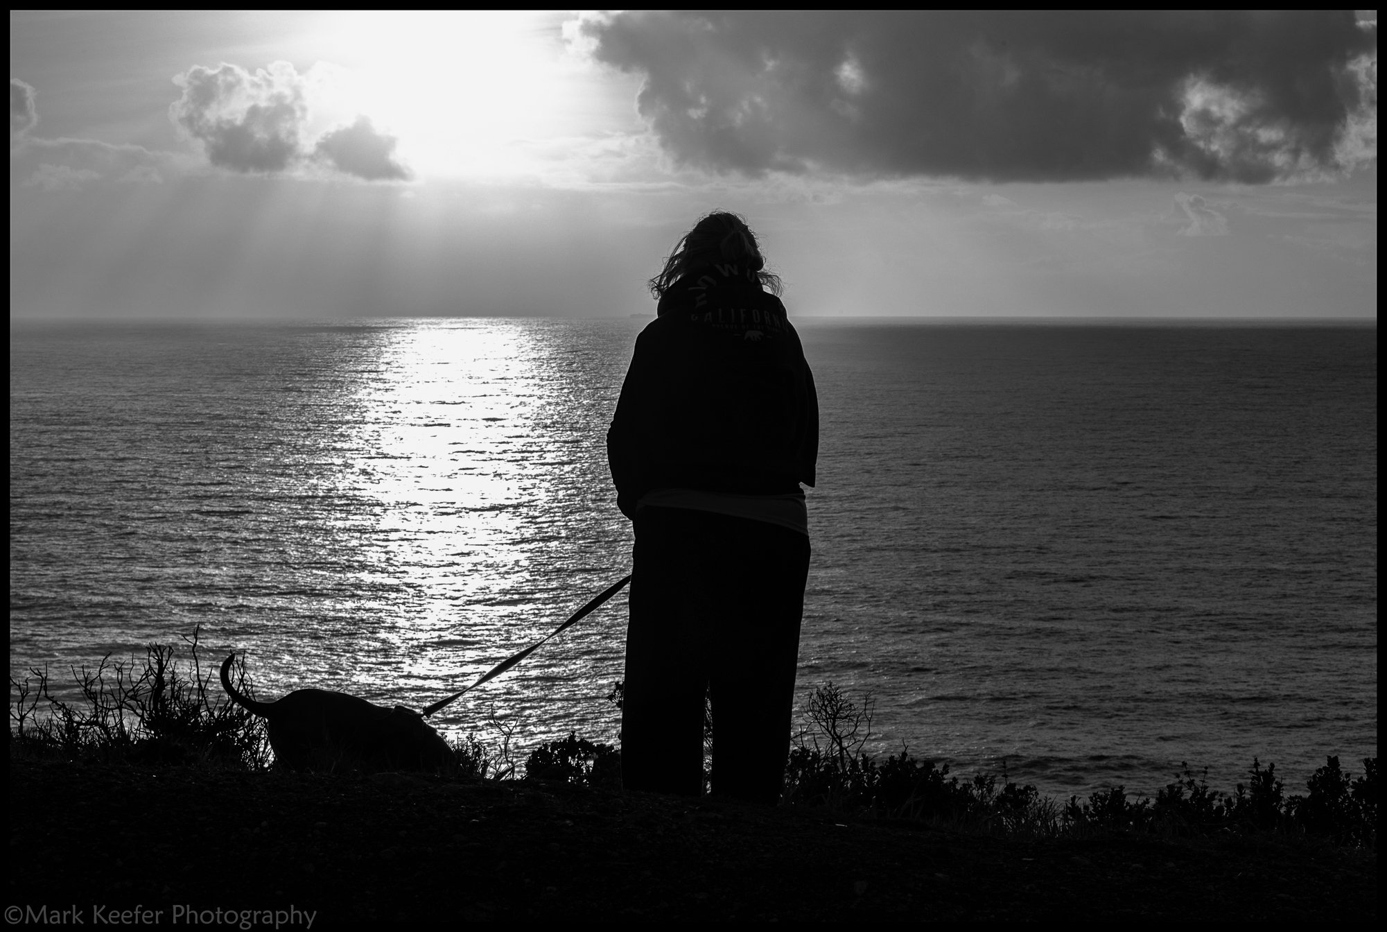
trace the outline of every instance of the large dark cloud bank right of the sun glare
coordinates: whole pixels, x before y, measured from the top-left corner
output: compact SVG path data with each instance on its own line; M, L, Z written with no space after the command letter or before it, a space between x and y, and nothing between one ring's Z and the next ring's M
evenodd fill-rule
M1352 11L638 11L580 32L712 171L1268 182L1376 158L1377 29ZM1345 146L1369 121L1372 146Z

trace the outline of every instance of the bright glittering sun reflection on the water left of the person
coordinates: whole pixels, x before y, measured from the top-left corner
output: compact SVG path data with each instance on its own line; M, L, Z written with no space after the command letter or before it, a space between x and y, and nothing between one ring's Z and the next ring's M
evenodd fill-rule
M354 682L393 681L424 705L624 571L628 530L606 501L602 444L632 334L599 337L584 359L571 327L558 325L416 322L383 334L334 476L358 502L344 523L369 553L362 570L394 592L376 605L387 617L368 621L380 649L356 659ZM440 718L479 728L494 700L545 730L556 699L620 675L612 631L565 641Z

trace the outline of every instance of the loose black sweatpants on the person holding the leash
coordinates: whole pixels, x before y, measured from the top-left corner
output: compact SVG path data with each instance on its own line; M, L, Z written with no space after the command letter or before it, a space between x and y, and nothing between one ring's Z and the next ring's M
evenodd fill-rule
M703 791L703 696L716 795L774 804L785 781L809 538L716 512L635 516L621 778Z

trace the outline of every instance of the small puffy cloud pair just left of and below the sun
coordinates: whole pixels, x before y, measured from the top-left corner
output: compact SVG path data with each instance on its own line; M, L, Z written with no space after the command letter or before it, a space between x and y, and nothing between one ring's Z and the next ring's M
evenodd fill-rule
M169 118L207 153L207 159L233 172L284 173L326 165L363 180L405 180L409 171L394 158L395 137L369 119L307 139L309 97L322 75L300 75L287 61L254 74L239 65L215 69L196 65L173 78L183 89L169 105Z

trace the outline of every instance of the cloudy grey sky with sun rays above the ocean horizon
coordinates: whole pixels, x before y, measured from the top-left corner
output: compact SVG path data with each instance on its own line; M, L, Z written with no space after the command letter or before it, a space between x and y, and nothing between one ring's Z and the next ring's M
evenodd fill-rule
M11 12L10 316L1359 318L1376 11Z

